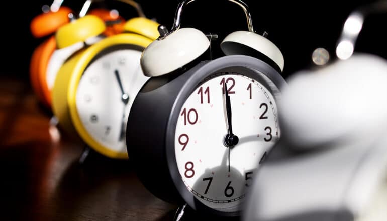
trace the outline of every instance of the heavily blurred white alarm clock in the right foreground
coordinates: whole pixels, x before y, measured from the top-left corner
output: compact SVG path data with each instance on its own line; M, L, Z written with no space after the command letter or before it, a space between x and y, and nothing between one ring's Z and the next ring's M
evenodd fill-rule
M387 62L354 53L366 16L385 11L385 1L355 9L337 58L288 78L282 137L254 177L242 220L387 218Z

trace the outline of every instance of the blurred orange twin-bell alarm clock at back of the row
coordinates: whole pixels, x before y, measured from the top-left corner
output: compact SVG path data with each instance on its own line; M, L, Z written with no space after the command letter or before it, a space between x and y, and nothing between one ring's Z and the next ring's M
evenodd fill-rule
M86 15L91 2L91 0L85 1L79 13L79 17ZM133 1L130 0L123 0L122 2L129 2L131 5L133 5ZM43 37L53 34L59 27L69 23L71 19L75 20L73 18L73 12L65 6L61 6L61 3L62 1L54 1L51 7L49 7L51 11L44 12L32 20L30 27L31 32L35 37ZM136 9L141 10L140 7L136 7ZM143 14L142 11L140 13ZM111 36L122 32L123 24L125 21L123 17L119 16L118 11L94 8L90 10L88 14L95 15L103 19L104 22L108 24L104 32L101 33L101 36ZM77 25L77 27L74 26L73 31L74 33L83 33L84 30L82 25L84 24L93 26L94 22L95 21L90 18L86 18L82 22L77 21L77 23L81 23L81 25ZM79 37L79 35L76 36ZM94 33L87 33L85 36L82 36L82 38L85 38L84 42L86 44L92 44L98 38L101 38L98 37L88 39L89 37L95 37ZM82 42L79 41L78 44L73 44L64 48L58 47L55 36L51 36L43 43L41 43L41 45L39 45L33 52L30 61L30 79L34 93L36 94L38 100L44 104L45 107L51 109L51 89L60 66L69 56L83 48L83 46L84 45Z

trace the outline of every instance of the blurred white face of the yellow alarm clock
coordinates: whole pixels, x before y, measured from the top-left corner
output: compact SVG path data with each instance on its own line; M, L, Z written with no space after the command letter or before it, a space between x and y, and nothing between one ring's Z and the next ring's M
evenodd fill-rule
M77 112L88 134L117 153L127 152L130 108L148 80L141 71L140 56L141 51L120 49L98 57L84 71L76 92Z

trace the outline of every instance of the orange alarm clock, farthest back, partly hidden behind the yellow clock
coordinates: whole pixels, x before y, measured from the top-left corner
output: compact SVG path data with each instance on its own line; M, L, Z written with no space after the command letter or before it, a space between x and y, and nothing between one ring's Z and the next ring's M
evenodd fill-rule
M30 29L34 37L38 38L54 34L58 28L70 22L69 14L73 11L68 7L55 5L54 1L50 9L56 10L44 12L31 21ZM107 28L102 35L111 36L123 31L125 20L114 10L93 9L88 14L95 15L107 23ZM80 49L77 46L64 49L65 52L59 53L61 55L58 58L58 56L53 56L57 48L55 37L49 37L35 49L30 61L30 81L32 88L39 102L48 109L51 109L51 88L55 80L55 74L51 74L54 76L49 76L47 71L55 73L56 71L51 69L58 69L57 63L62 63L66 57ZM52 61L56 59L61 61ZM50 63L56 63L56 67L50 68ZM55 64L51 66L55 66Z

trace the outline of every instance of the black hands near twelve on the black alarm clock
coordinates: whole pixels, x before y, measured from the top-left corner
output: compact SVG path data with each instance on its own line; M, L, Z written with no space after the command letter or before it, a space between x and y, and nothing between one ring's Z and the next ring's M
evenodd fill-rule
M223 144L227 147L228 169L230 172L230 148L238 144L238 136L233 134L232 120L231 120L231 101L227 89L226 82L224 83L224 94L226 100L226 118L227 118L227 134L224 136Z

